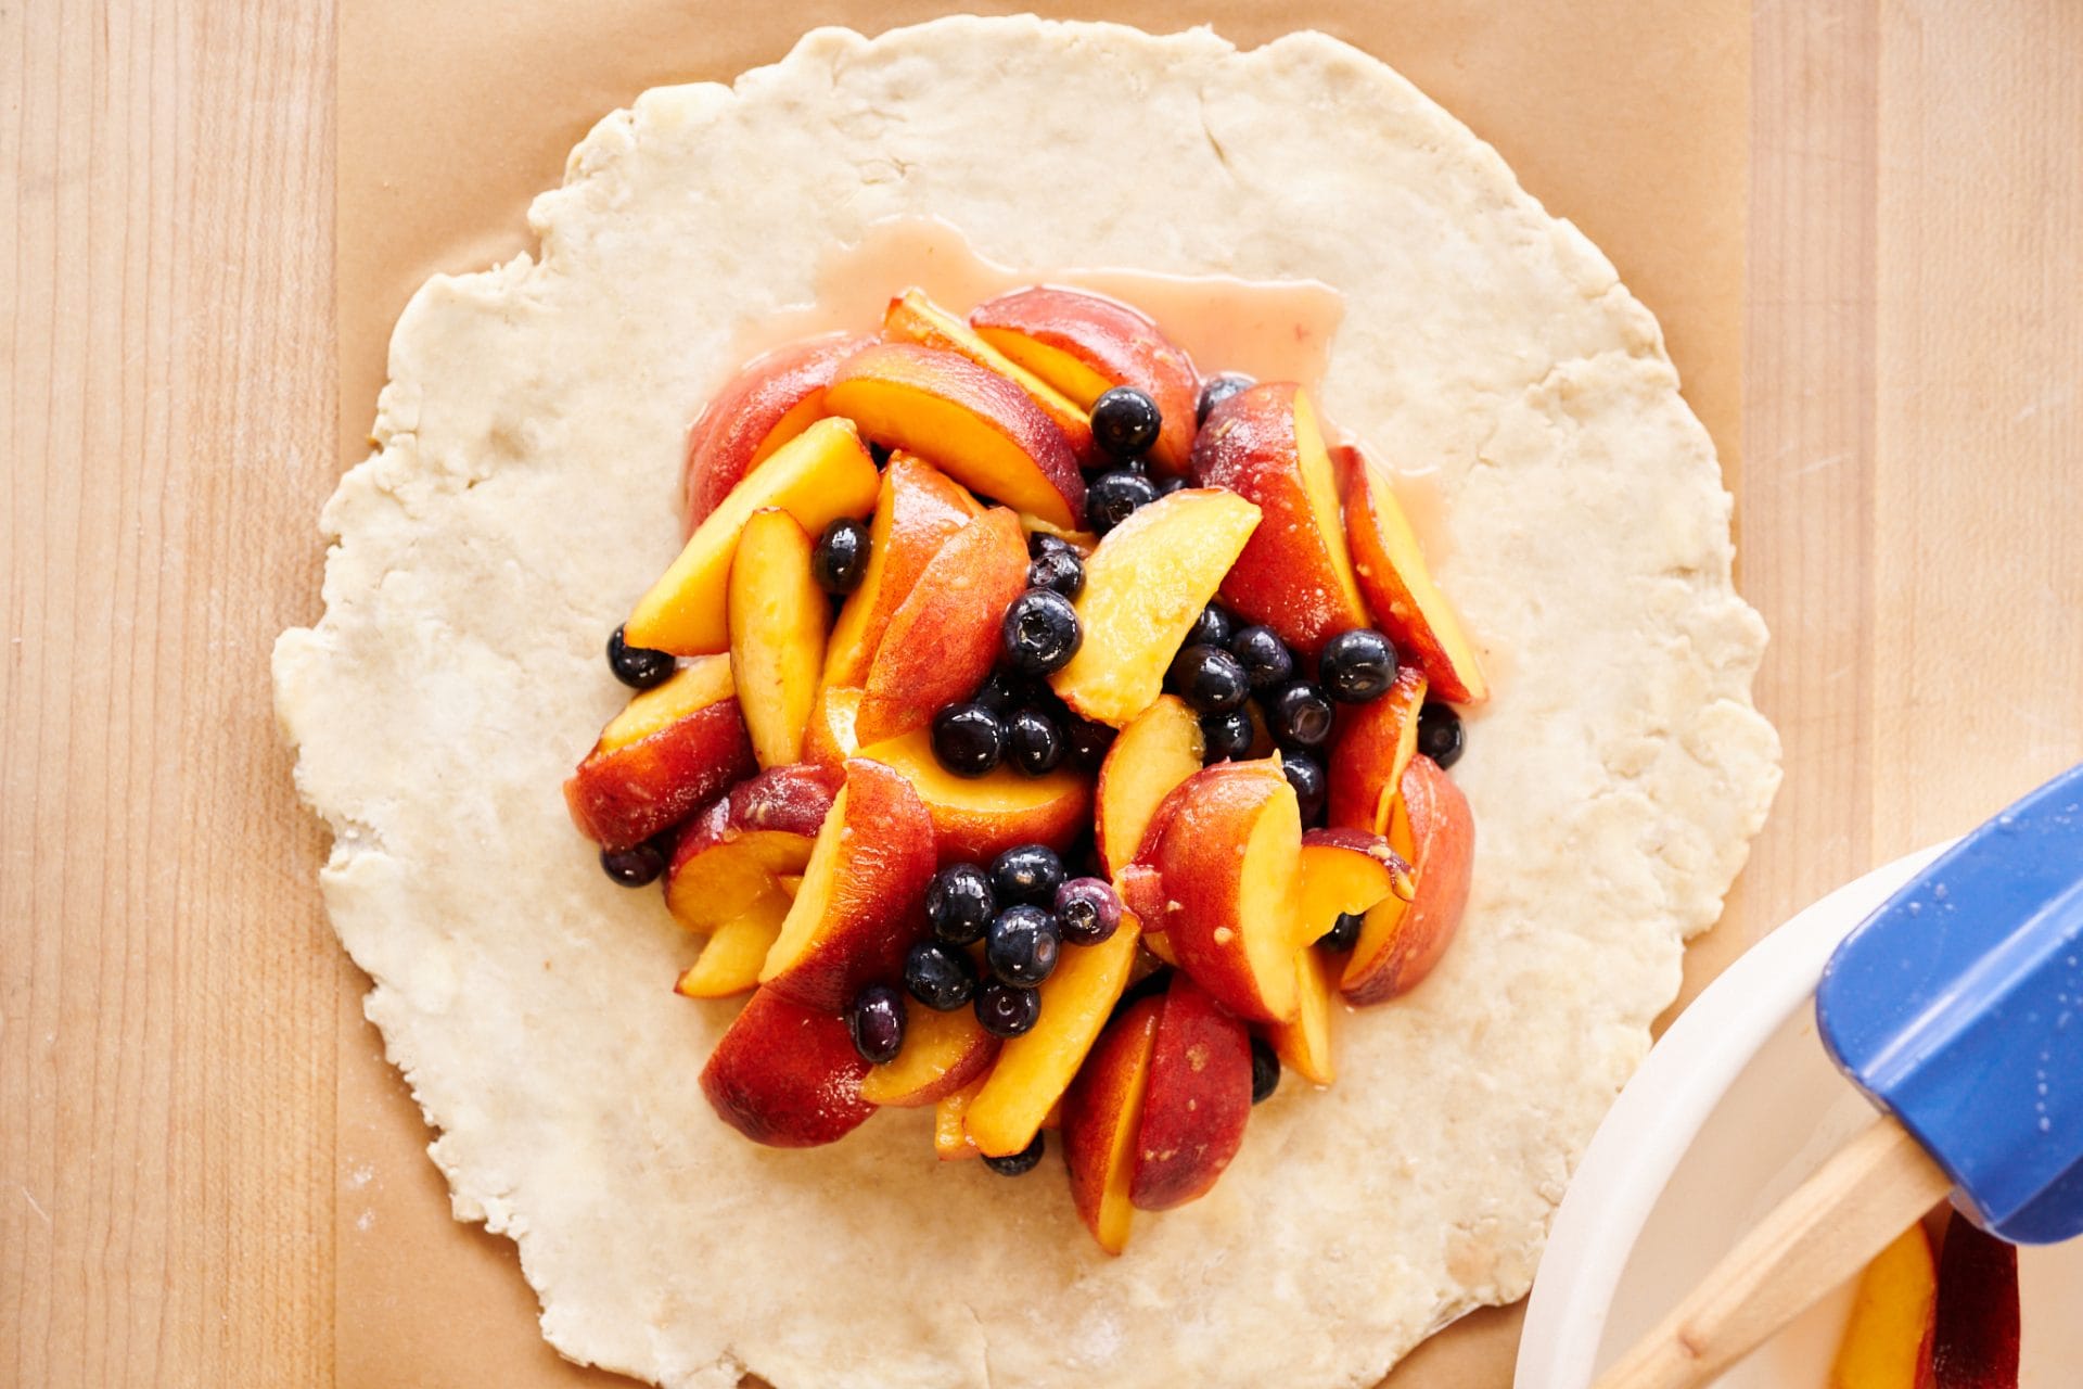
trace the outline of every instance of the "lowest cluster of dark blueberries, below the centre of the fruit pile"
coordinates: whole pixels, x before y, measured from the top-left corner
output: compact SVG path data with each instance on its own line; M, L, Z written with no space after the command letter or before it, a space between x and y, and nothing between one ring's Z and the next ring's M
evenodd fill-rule
M925 893L931 935L904 956L904 989L869 985L846 1014L854 1047L875 1064L904 1050L906 995L935 1012L964 1004L994 1037L1019 1037L1042 1018L1042 981L1064 945L1098 945L1121 929L1121 898L1094 877L1069 879L1044 843L1023 843L983 864L948 864ZM983 943L983 968L971 948ZM1008 1158L985 1158L1019 1175L1042 1160L1042 1137Z

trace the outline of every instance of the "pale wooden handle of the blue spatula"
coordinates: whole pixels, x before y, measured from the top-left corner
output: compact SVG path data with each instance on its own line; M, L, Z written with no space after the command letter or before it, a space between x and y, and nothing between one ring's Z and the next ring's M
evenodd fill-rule
M1952 1179L1891 1118L1846 1143L1746 1235L1596 1389L1696 1389L1856 1274Z

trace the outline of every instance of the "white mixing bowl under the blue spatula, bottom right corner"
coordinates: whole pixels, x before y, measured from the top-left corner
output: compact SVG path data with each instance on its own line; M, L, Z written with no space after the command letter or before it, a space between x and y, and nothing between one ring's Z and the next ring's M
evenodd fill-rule
M1664 1033L1585 1150L1533 1283L1514 1389L1589 1389L1764 1212L1860 1127L1866 1100L1816 1039L1812 995L1852 927L1935 845L1768 935ZM2083 1385L2083 1239L2023 1249L2021 1389ZM1825 1389L1850 1289L1725 1374Z

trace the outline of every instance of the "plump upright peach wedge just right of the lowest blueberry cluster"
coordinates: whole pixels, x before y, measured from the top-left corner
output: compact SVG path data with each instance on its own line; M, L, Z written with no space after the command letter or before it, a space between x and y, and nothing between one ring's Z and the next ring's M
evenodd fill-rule
M1179 968L1246 1020L1291 1020L1302 810L1279 760L1194 773L1158 814L1144 858Z

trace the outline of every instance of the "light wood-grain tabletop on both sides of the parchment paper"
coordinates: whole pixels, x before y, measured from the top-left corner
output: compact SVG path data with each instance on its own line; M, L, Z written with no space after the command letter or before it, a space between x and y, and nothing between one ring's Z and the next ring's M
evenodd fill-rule
M323 2L0 8L8 1385L333 1372L360 981L267 691L337 471L331 65ZM1787 785L1721 952L2083 758L2083 6L1768 0L1752 92Z

